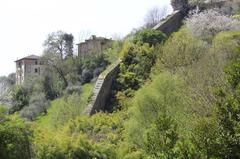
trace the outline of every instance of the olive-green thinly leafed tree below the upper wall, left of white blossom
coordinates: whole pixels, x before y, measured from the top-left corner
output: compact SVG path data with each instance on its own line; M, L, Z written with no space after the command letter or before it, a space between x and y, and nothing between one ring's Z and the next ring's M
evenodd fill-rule
M170 71L192 65L205 53L206 44L183 28L174 33L160 50L161 63Z

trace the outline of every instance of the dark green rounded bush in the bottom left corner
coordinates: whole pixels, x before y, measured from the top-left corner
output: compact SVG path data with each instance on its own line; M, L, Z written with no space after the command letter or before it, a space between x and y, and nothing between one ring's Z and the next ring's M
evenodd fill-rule
M32 132L22 121L0 118L0 158L31 158Z

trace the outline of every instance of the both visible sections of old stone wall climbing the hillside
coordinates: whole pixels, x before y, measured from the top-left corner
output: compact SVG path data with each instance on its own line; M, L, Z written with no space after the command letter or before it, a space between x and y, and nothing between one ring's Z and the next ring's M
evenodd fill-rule
M163 33L169 35L182 25L183 19L183 12L175 11L164 21L156 25L153 29L160 30ZM96 112L106 110L111 93L112 83L117 76L120 63L121 60L118 60L98 77L96 84L93 88L90 101L85 109L85 114L93 115Z

